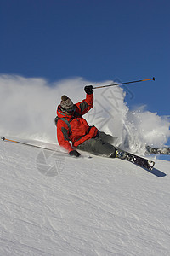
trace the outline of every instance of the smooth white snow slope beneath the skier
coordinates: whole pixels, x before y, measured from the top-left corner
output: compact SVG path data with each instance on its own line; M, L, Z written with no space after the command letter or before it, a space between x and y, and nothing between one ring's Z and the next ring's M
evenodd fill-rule
M0 143L0 255L169 255L168 161L64 157L48 177L40 151Z

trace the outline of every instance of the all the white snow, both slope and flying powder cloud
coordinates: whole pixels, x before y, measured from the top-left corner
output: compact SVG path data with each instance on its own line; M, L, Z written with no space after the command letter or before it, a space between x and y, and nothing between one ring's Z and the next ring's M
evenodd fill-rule
M60 96L82 101L87 84L113 81L50 84L0 75L1 137L57 150L0 141L0 255L169 255L169 156L152 156L155 168L146 171L123 160L85 153L75 159L58 151L54 117ZM132 110L125 97L124 87L95 90L94 108L84 116L88 124L138 154L148 143L168 143L169 117L144 106Z

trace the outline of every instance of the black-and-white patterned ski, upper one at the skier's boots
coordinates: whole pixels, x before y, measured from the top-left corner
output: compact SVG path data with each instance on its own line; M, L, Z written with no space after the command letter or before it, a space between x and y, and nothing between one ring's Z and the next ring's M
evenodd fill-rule
M155 165L155 162L153 160L148 160L148 159L145 159L144 157L141 157L139 155L132 154L132 153L129 153L127 151L120 150L120 149L116 150L116 157L121 159L121 160L130 161L133 164L135 164L137 166L144 167L148 170L152 170L154 165Z

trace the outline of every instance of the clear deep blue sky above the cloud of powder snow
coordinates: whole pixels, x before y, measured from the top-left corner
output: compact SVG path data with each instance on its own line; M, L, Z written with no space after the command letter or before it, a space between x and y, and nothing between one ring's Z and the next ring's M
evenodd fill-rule
M170 1L1 0L0 73L50 82L150 79L129 106L169 115Z

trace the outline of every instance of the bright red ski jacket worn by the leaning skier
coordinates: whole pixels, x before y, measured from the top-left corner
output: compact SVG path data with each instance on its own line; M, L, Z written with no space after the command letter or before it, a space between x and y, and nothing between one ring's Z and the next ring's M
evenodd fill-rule
M98 129L95 126L89 126L87 121L82 118L82 115L87 113L94 107L94 94L86 96L82 102L78 102L76 111L72 115L67 115L61 111L60 105L57 108L57 138L59 145L69 152L73 150L72 146L77 148L79 144L95 137Z

